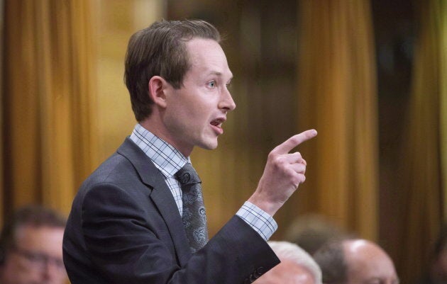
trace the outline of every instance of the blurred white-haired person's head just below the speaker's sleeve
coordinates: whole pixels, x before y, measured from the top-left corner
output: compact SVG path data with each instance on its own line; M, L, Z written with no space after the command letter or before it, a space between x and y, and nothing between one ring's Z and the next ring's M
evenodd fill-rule
M255 280L255 284L321 284L321 270L296 244L268 242L281 263Z

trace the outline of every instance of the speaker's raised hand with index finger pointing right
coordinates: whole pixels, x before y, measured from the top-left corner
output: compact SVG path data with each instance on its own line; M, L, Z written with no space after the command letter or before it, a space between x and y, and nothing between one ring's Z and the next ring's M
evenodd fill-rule
M267 164L258 188L248 199L271 216L297 190L300 183L306 180L307 162L299 152L289 153L304 141L316 136L316 130L307 130L290 137L272 149L268 154Z

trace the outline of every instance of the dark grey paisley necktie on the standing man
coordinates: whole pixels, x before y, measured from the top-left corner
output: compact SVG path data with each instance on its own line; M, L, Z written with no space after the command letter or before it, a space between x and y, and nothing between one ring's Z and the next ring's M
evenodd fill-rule
M192 164L185 164L175 177L182 185L183 212L182 220L192 253L202 249L208 242L206 214L202 186Z

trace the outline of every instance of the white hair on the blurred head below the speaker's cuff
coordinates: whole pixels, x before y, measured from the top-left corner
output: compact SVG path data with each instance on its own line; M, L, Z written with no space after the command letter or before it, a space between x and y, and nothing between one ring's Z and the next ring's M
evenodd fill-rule
M269 241L268 244L277 255L278 259L293 261L301 266L304 266L314 276L316 284L321 284L321 269L316 264L312 256L308 254L304 249L292 244L290 242L275 242Z

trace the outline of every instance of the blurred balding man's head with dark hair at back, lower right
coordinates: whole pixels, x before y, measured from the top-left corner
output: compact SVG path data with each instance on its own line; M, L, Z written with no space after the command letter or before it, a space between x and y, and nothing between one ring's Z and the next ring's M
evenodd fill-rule
M328 243L314 254L325 284L398 284L394 263L380 246L365 239Z

